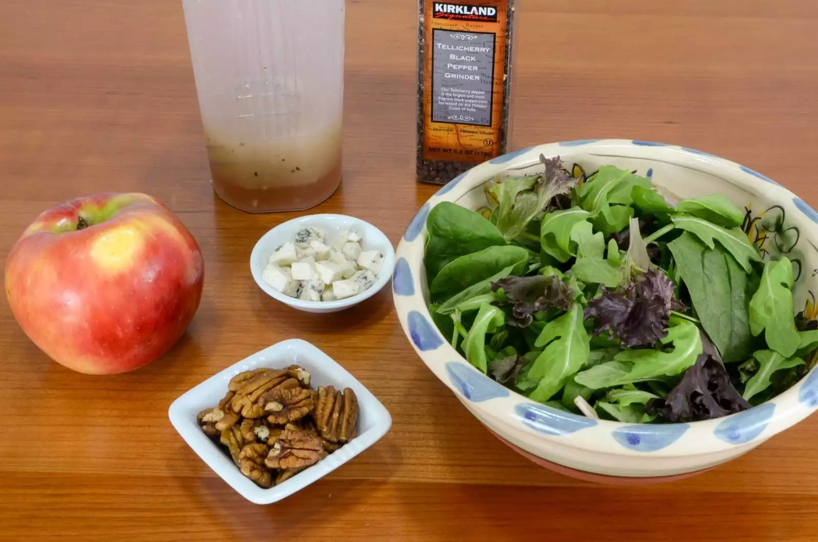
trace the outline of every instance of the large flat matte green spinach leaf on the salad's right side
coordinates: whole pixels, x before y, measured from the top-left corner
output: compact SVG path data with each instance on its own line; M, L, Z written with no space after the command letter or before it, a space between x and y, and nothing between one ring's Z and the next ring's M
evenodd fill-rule
M726 362L747 359L750 333L747 275L721 248L708 250L691 233L667 243L690 300Z

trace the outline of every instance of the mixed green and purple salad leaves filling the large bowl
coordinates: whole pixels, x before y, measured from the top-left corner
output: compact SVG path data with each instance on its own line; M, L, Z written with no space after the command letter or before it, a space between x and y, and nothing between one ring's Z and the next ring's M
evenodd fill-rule
M764 261L725 196L671 203L611 165L582 183L560 157L487 183L490 209L429 213L440 332L470 364L556 409L686 422L748 409L807 373L818 325L793 266Z

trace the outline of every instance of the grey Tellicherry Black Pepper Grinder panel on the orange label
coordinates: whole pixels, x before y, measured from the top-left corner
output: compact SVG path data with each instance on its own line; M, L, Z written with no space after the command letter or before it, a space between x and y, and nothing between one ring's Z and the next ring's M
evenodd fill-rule
M432 121L492 125L494 48L488 32L432 32Z

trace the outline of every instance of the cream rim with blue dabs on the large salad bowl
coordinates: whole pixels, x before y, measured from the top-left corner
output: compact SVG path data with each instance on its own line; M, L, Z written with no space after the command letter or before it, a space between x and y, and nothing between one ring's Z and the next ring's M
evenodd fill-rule
M663 424L591 420L536 403L497 384L472 367L440 336L423 294L425 219L429 210L442 201L456 202L503 170L524 169L537 164L541 153L550 157L560 155L560 151L570 153L577 160L581 160L577 155L647 159L712 174L786 207L788 216L792 215L803 228L805 238L812 246L818 246L818 213L815 210L766 175L708 152L662 142L626 139L552 142L513 151L475 165L440 188L420 207L398 244L393 300L403 331L427 367L459 399L469 401L481 416L497 424L512 424L515 430L524 431L534 439L554 440L561 445L604 454L663 457L716 454L748 444L757 445L813 413L818 408L818 367L812 368L795 386L772 400L723 418ZM429 338L434 336L434 340Z

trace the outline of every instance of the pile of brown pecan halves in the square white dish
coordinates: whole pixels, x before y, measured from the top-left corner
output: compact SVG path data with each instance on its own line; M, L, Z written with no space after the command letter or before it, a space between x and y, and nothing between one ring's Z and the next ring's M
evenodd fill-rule
M242 474L263 488L290 479L356 436L355 392L310 386L298 365L239 373L227 395L196 419L230 454Z

